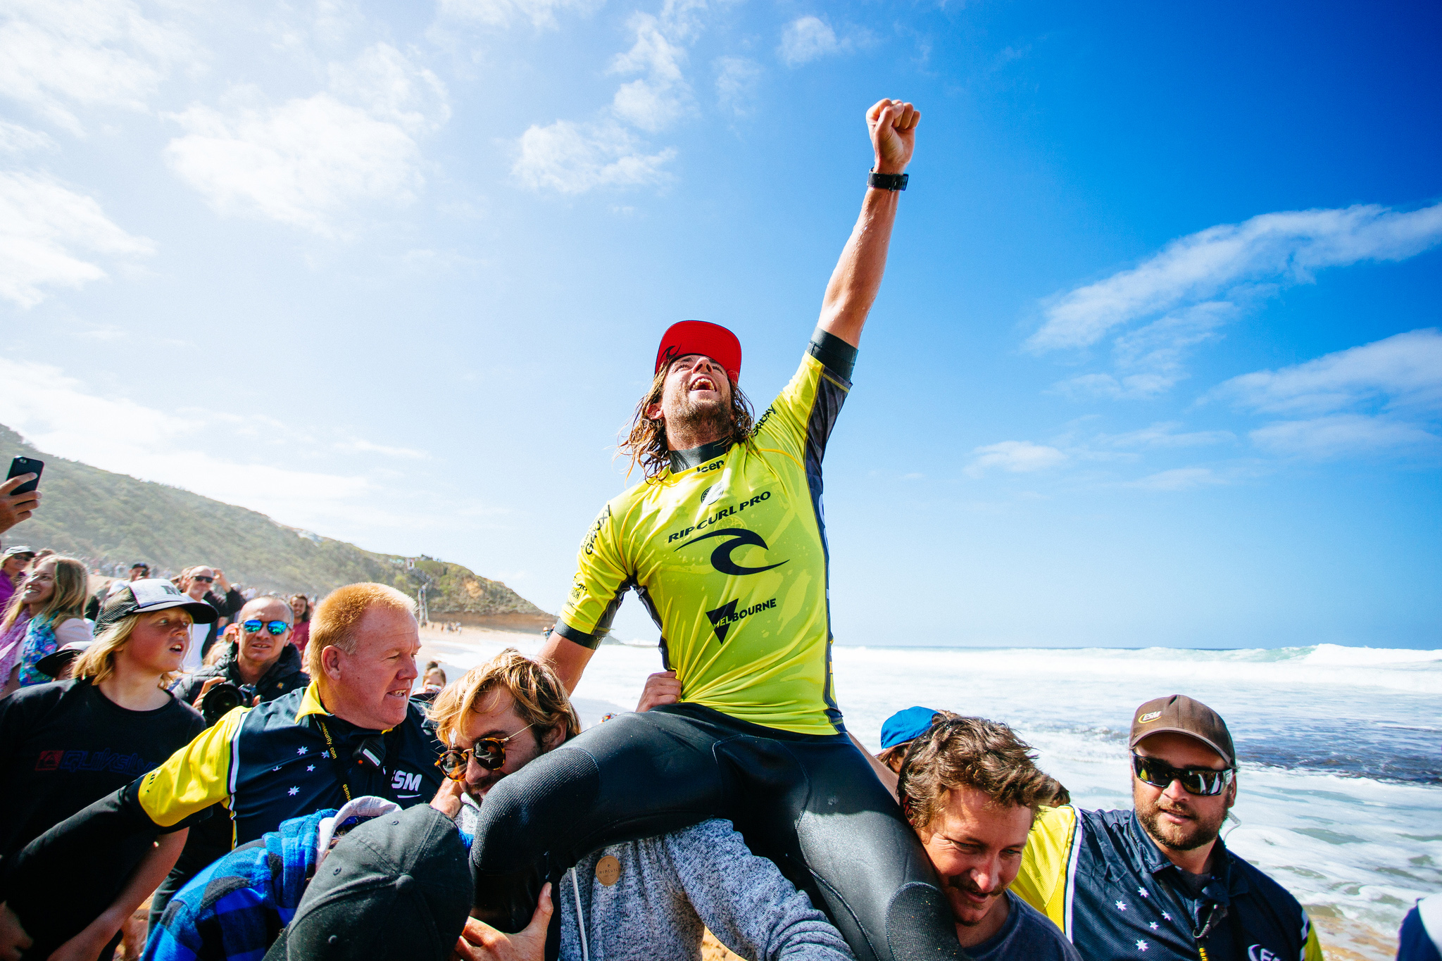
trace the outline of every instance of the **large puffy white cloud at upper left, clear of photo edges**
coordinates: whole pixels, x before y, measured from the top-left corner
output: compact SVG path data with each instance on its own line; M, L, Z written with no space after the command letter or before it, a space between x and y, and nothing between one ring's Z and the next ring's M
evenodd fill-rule
M226 111L172 115L186 134L166 160L219 213L260 216L323 236L358 205L404 203L424 184L414 137L450 117L444 85L379 43L330 66L330 91L265 104L239 89Z

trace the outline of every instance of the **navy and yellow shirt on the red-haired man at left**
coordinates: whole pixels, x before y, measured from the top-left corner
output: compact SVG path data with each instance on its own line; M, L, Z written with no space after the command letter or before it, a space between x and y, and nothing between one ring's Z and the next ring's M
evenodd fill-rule
M424 720L412 702L407 719L389 732L356 728L327 713L311 683L225 715L141 778L136 801L162 827L224 804L235 844L274 831L287 818L339 808L346 788L350 797L425 804L444 781L435 766L441 746ZM379 765L355 756L366 741Z

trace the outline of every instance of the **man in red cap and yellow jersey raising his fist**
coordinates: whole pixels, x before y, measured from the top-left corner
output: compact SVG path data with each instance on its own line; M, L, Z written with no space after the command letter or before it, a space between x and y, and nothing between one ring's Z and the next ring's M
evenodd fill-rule
M574 689L636 591L679 693L490 791L472 869L474 913L495 926L525 928L541 886L600 847L721 817L862 961L965 957L920 841L842 725L820 509L822 455L881 287L919 120L901 101L867 111L875 166L861 218L800 367L754 424L731 331L684 321L662 337L627 444L645 480L585 533L542 656Z

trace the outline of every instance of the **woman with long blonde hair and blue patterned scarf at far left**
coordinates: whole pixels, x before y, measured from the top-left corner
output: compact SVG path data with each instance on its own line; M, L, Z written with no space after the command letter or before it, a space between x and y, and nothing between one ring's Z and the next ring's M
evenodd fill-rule
M91 628L84 617L88 579L85 565L75 558L49 555L35 562L12 601L26 609L30 621L19 650L7 651L13 660L9 664L0 663L0 667L7 669L0 697L19 687L55 680L36 670L40 658L53 654L63 644L84 644L91 640ZM17 614L17 609L6 612L6 621L0 622L0 634L13 624ZM3 660L9 658L0 658Z

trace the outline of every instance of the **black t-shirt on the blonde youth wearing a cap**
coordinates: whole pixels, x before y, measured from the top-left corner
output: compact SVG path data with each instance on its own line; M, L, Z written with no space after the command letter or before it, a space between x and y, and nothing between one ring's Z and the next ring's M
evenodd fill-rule
M189 705L127 710L88 680L0 700L0 857L123 788L205 730Z

